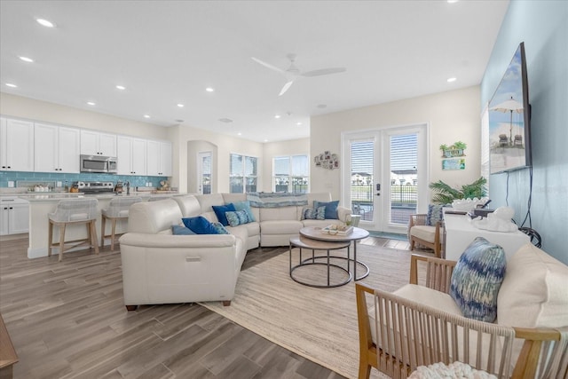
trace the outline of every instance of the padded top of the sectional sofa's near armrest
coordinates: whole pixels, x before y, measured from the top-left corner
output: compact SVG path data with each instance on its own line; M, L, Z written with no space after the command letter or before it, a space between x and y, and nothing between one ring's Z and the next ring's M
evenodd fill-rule
M146 234L125 233L120 238L121 245L142 248L223 248L234 246L236 237L233 234Z

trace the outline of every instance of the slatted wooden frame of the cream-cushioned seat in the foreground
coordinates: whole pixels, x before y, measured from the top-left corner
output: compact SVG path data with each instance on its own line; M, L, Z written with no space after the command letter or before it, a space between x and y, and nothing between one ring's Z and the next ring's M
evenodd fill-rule
M426 287L447 293L455 262L413 255L411 284L418 283L418 261L427 266ZM510 328L466 319L359 283L355 290L359 379L368 378L371 367L394 378L405 378L416 367L438 362L448 365L455 360L500 378L534 378L537 373L539 377L550 378L568 375L565 367L568 330ZM375 312L371 313L376 320L373 326L367 298L375 300ZM470 341L470 336L477 338L473 348L471 343L463 343ZM524 339L525 343L517 361L513 362L511 351L515 338ZM378 345L374 340L379 341Z

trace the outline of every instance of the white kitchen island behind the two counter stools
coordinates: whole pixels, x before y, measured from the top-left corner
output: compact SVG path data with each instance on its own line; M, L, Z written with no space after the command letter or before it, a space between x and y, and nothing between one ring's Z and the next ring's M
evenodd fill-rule
M59 201L64 199L73 198L94 198L99 201L99 211L97 216L97 237L100 239L100 209L108 208L110 201L117 196L139 196L142 201L148 201L152 198L162 199L164 197L180 196L180 193L130 193L126 194L114 194L114 193L102 193L102 194L83 194L83 193L53 193L53 194L36 194L36 195L23 195L22 199L29 201L29 246L28 246L28 258L38 258L47 257L49 252L48 243L48 225L49 218L48 214L55 211ZM109 223L110 224L110 223ZM110 233L110 225L106 225L106 234ZM119 220L116 223L116 233L125 233L127 228L127 220ZM84 225L68 225L66 229L66 240L73 241L86 238L87 230ZM53 233L53 242L59 242L59 233ZM84 249L84 248L82 248ZM70 251L73 251L71 249ZM57 255L59 253L58 249L53 249L53 254Z

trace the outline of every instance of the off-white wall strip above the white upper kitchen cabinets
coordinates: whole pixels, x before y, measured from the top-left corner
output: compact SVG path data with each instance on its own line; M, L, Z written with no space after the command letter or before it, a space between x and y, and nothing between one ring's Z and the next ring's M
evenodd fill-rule
M141 138L168 138L168 128L0 92L0 114Z

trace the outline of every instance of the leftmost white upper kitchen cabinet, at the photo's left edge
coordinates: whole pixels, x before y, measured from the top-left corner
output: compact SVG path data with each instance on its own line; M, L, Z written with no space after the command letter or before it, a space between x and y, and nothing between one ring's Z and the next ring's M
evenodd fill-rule
M34 122L0 120L0 170L34 170Z

